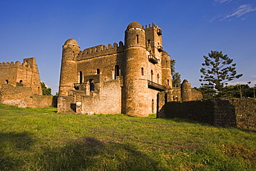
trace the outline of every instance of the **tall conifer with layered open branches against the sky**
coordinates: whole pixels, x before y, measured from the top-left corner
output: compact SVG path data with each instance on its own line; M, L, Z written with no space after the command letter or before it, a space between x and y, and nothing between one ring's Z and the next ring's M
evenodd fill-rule
M222 89L224 84L227 82L240 78L243 74L238 74L235 70L236 64L232 64L233 60L228 57L228 55L223 55L219 51L211 51L208 56L203 56L205 61L201 68L201 79L200 82L202 86L214 87L217 89L219 96L222 96Z

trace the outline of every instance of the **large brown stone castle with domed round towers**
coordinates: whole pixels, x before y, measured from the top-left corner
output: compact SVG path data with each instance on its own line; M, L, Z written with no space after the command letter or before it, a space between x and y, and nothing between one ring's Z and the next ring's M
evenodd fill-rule
M172 86L170 55L163 51L162 30L155 24L132 22L125 44L99 45L80 50L75 39L62 46L57 111L78 114L156 113L158 93L168 100L199 100L188 80Z

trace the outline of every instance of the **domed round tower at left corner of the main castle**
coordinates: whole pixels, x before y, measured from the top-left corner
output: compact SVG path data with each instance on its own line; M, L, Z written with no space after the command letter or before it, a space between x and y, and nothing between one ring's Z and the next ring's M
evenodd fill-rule
M77 82L76 57L80 47L75 39L67 39L62 46L62 66L60 70L59 96L68 96L68 91L74 89Z

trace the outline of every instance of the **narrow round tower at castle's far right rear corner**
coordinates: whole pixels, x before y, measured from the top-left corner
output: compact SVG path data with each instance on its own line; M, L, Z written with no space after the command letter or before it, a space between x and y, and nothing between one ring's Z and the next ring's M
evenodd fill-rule
M162 52L162 84L167 89L172 89L172 71L170 55L166 51Z

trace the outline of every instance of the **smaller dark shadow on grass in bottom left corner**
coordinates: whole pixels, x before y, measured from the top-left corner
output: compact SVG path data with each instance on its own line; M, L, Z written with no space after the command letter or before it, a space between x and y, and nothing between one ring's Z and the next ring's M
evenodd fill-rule
M0 170L19 170L26 164L17 156L30 149L32 137L28 132L0 133Z

